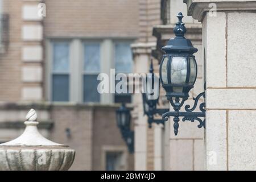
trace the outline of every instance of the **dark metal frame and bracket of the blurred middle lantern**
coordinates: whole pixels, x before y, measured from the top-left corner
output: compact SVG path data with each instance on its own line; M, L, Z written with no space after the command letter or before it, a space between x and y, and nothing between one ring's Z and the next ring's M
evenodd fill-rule
M155 76L154 76L154 68L153 68L152 59L151 59L151 63L150 63L150 71L149 72L151 73L151 79L152 79L151 84L154 87L154 85L155 85L154 84ZM143 82L143 83L146 84L146 85L143 85L143 87L144 87L144 91L147 92L146 86L148 84L148 77L146 77L146 82ZM157 89L158 89L158 93L159 93L160 81L159 81L159 85L158 85ZM154 119L154 115L155 114L162 115L162 114L168 112L169 109L156 109L156 106L159 103L159 94L158 94L158 97L155 100L152 100L152 99L148 99L147 93L145 93L145 92L142 93L142 100L143 100L144 114L146 114L147 117L148 117L148 119L147 119L148 127L151 128L152 127L152 123L163 124L164 125L163 119Z

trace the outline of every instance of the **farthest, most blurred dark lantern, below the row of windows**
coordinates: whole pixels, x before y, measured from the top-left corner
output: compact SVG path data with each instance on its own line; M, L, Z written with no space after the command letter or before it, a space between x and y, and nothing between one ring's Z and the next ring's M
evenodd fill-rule
M116 110L117 126L121 131L122 138L128 147L130 153L134 152L134 131L130 129L131 113L123 103L119 109Z

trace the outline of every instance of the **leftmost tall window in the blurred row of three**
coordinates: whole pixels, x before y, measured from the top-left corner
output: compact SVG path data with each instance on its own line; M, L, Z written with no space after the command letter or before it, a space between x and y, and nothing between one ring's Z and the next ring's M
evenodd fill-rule
M69 43L55 42L52 48L52 100L69 101Z

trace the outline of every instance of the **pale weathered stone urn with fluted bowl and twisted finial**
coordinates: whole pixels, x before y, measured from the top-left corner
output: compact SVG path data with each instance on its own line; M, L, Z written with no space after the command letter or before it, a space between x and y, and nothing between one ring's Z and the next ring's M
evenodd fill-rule
M37 114L31 109L20 137L0 144L2 171L64 171L75 159L75 150L44 138L38 131Z

